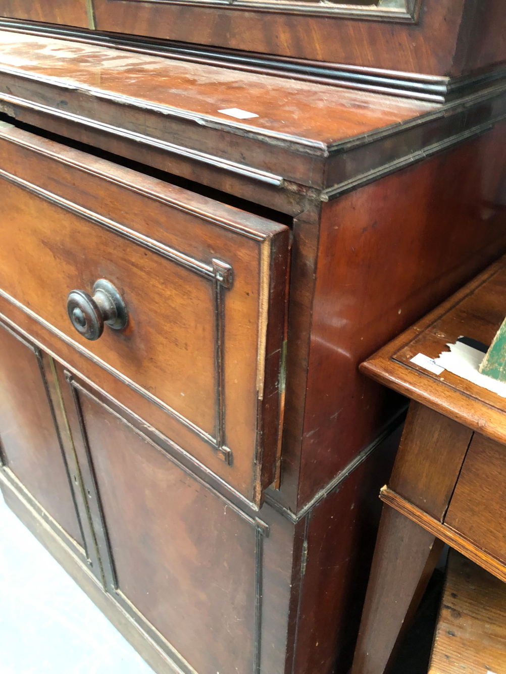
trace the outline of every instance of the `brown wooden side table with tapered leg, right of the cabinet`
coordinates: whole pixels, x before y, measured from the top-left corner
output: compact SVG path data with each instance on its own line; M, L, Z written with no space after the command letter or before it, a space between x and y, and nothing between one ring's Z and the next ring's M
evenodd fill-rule
M387 670L443 543L506 581L506 398L433 359L465 336L491 344L506 314L506 257L360 365L411 399L389 484L352 674Z

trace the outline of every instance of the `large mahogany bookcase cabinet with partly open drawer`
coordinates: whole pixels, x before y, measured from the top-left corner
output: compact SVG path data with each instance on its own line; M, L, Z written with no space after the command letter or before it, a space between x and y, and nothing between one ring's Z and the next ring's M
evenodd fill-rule
M345 674L406 410L357 365L506 251L502 3L0 15L7 503L156 671Z

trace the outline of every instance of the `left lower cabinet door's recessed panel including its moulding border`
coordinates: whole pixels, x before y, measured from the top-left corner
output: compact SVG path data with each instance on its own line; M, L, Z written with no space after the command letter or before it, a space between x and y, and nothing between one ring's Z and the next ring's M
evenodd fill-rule
M0 462L3 479L98 574L54 363L1 321Z

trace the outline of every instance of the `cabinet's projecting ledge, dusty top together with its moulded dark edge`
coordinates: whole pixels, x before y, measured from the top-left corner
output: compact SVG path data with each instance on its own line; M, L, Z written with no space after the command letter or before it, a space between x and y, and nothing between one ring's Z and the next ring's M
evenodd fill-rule
M463 108L0 32L4 114L291 215L506 115L504 82L466 96ZM257 117L222 112L239 105Z

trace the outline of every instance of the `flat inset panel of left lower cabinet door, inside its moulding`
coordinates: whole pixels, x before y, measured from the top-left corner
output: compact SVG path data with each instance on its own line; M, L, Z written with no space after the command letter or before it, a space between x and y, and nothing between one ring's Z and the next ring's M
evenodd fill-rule
M4 468L84 546L48 397L47 357L0 324L0 439Z

